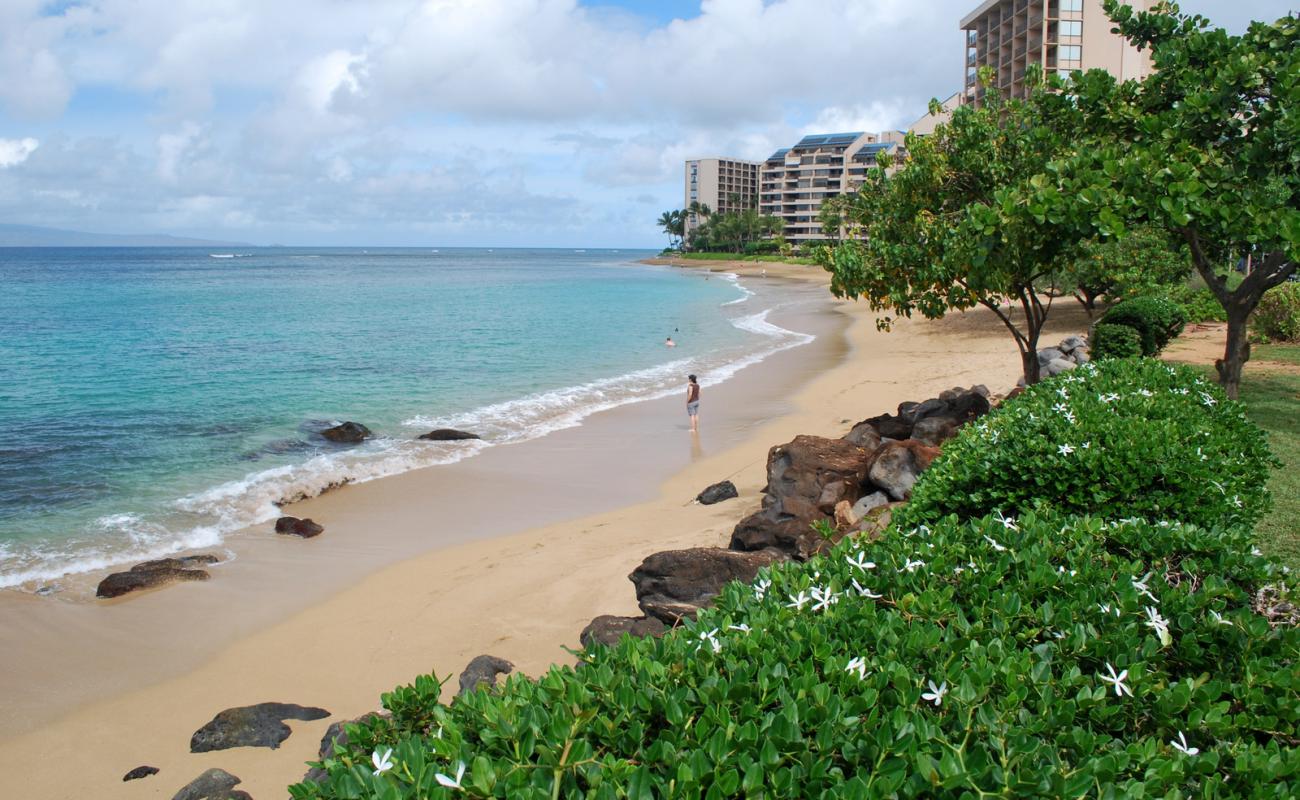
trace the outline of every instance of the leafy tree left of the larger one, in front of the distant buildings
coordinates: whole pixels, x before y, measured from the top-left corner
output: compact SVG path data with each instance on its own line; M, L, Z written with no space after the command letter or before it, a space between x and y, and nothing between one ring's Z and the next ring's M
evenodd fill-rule
M985 85L991 74L982 75ZM1031 70L1031 82L1040 74ZM1040 87L1035 96L1043 95ZM936 101L931 103L935 111ZM837 297L863 298L875 311L927 319L989 308L1015 338L1024 381L1039 380L1039 334L1050 293L1088 230L1063 230L1041 204L1008 202L1010 187L1044 182L1049 161L1069 152L1069 103L1004 100L989 91L962 105L928 137L907 135L907 159L867 172L866 183L836 209L850 234L818 258ZM1019 307L1020 313L1013 311ZM892 317L878 317L888 329Z

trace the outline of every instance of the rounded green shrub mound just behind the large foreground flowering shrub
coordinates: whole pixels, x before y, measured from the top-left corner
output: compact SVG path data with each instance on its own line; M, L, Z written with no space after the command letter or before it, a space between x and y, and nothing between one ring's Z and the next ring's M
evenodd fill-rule
M1053 509L1249 527L1268 510L1264 433L1190 367L1101 360L1030 386L944 445L907 524Z

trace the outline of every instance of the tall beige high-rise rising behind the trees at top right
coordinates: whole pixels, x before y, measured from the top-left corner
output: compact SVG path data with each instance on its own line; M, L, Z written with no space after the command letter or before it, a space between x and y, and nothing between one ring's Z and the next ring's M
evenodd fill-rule
M1128 0L1141 10L1154 0ZM1045 74L1104 69L1121 81L1153 72L1150 52L1139 52L1118 34L1101 0L985 0L962 18L966 35L966 75L962 103L979 103L985 87L979 72L993 70L993 85L1010 98L1024 98L1024 70Z

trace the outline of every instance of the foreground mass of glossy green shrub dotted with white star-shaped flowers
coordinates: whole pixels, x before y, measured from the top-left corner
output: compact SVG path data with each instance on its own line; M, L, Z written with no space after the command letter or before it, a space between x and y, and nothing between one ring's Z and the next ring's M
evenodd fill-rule
M386 695L291 795L1294 797L1300 630L1251 607L1273 570L1242 531L1144 520L849 540L578 670Z

